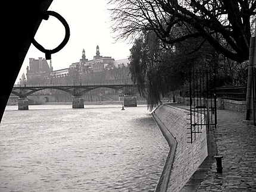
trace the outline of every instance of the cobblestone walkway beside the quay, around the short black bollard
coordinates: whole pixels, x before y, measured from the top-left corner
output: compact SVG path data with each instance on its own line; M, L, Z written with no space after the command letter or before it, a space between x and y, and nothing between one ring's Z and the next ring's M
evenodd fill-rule
M256 191L256 127L243 122L244 113L218 110L216 144L223 155L223 174L216 163L196 191Z

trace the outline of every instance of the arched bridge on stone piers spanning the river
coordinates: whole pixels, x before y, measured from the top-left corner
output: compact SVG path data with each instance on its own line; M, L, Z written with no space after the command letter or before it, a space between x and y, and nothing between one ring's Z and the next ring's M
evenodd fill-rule
M103 83L73 83L73 84L15 84L11 93L17 95L18 109L28 110L29 100L27 96L32 93L45 89L57 89L73 95L72 108L84 108L83 95L93 89L108 88L118 90L124 94L124 106L137 106L136 93L138 88L136 84L103 84Z

